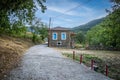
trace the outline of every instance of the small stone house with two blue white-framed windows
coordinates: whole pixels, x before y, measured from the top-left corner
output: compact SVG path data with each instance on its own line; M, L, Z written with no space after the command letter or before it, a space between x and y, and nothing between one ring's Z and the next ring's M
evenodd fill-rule
M71 48L73 46L73 39L71 39L70 29L63 27L50 29L48 44L50 47Z

